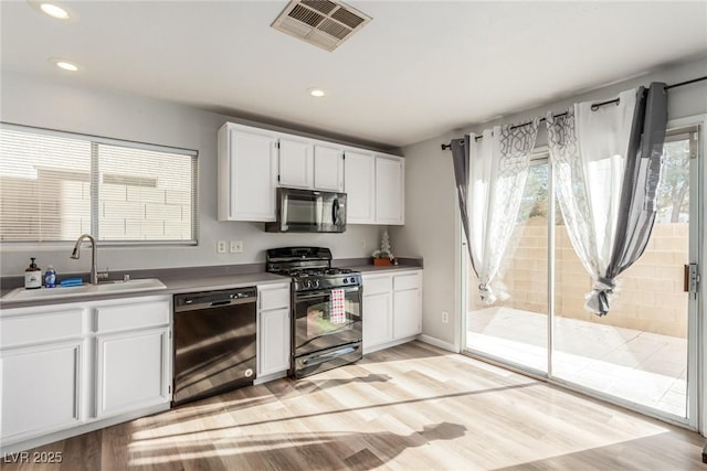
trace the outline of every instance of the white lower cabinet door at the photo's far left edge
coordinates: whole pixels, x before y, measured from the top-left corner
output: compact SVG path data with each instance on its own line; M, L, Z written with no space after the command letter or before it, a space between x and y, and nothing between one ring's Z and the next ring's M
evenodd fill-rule
M0 353L2 441L81 422L82 341Z

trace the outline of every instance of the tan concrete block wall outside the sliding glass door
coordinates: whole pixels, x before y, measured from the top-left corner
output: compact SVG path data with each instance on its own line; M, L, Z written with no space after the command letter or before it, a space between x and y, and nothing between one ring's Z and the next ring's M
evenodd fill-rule
M514 256L506 263L503 282L510 298L498 302L524 311L547 313L547 222L531 218L516 229ZM591 291L587 275L574 254L564 226L557 226L556 315L598 322L643 332L685 338L687 293L683 291L683 266L688 258L688 225L656 224L643 256L619 276L611 311L599 318L584 310L584 295ZM469 270L469 310L481 309Z

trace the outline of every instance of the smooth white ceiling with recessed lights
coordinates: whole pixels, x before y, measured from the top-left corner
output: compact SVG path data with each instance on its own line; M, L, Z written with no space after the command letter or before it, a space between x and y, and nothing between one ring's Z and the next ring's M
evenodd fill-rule
M2 0L1 65L402 147L707 54L704 0L348 3L373 20L326 52L270 26L287 1Z

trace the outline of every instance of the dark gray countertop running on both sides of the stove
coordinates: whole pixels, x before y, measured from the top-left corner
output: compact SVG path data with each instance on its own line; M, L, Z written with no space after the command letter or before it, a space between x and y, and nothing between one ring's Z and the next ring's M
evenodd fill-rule
M405 260L400 265L390 266L374 266L374 265L346 265L347 268L358 270L363 274L369 272L386 272L386 271L401 271L411 269L422 269L420 263L416 260ZM14 309L14 308L29 308L35 306L49 306L49 304L64 304L70 302L86 302L98 301L106 299L123 299L123 298L136 298L144 296L172 296L183 292L196 291L211 291L219 289L242 288L255 285L268 285L277 282L289 282L289 278L281 275L273 275L265 271L258 272L238 272L238 269L224 269L222 267L215 268L209 272L204 270L204 267L196 267L191 269L178 269L178 270L161 270L159 274L150 274L149 278L159 278L159 280L167 287L165 289L143 290L133 292L120 293L104 293L104 295L87 295L75 296L67 298L52 298L43 297L36 300L23 300L23 301L1 301L0 309ZM159 275L159 276L155 276ZM133 279L148 278L146 276L135 277ZM54 288L61 290L61 288ZM0 296L4 296L10 292L11 289L2 289Z

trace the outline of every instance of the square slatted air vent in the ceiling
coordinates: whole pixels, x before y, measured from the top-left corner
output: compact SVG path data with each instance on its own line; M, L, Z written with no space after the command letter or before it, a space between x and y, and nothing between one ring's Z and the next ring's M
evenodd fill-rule
M336 0L293 0L272 26L327 51L334 51L371 21Z

